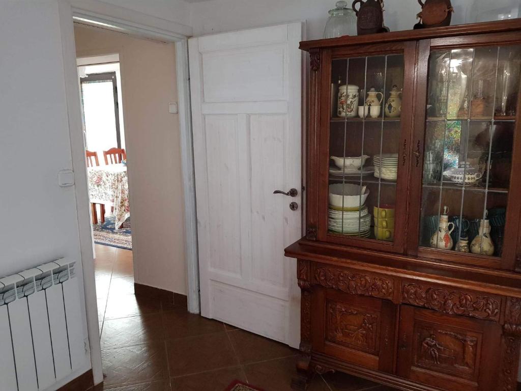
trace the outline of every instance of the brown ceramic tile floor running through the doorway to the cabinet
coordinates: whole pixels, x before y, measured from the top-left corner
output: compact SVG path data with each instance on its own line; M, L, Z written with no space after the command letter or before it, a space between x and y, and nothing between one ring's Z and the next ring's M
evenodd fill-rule
M104 384L114 391L224 391L238 379L290 390L296 351L241 329L134 295L132 252L96 245ZM316 376L309 391L390 391L361 378Z

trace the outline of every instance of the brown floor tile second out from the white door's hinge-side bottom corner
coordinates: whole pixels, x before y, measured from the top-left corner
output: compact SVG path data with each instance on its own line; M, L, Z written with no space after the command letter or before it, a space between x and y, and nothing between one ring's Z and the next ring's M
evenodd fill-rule
M170 339L166 346L171 377L239 364L226 333Z

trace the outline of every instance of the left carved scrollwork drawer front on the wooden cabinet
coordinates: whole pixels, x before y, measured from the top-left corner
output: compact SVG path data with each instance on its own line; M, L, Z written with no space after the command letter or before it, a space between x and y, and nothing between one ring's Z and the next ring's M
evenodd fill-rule
M345 269L320 266L315 270L316 282L326 288L339 289L352 295L392 299L393 282L378 275L351 272Z

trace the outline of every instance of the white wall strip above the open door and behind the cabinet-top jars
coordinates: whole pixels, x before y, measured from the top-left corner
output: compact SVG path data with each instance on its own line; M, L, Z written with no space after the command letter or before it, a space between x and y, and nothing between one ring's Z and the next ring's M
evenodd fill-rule
M288 21L306 20L307 39L320 39L324 33L327 11L335 0L210 0L192 3L193 35L261 27ZM351 4L351 0L348 0ZM452 25L492 20L493 9L512 9L518 13L519 0L452 0ZM410 30L417 22L420 6L416 0L386 0L384 24L391 31ZM488 9L487 11L485 9ZM502 11L501 11L502 12ZM515 17L516 15L514 15Z

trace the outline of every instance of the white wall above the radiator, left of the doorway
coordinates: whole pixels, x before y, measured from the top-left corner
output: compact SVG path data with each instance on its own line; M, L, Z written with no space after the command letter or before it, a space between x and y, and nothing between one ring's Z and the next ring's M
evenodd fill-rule
M72 169L60 34L56 0L0 3L0 276L66 257L83 286L75 188L57 179Z

